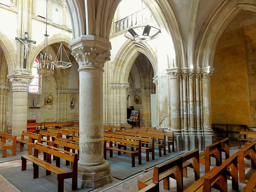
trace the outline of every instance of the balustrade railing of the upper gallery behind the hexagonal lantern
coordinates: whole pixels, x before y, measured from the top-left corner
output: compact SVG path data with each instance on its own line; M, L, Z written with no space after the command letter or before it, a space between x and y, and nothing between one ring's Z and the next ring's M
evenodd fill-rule
M135 12L121 20L118 20L115 22L116 29L114 33L118 33L120 31L123 31L129 27L138 25L141 23L142 20L142 15L141 15L141 10L138 12ZM150 11L147 8L143 9L143 22L152 19L152 15Z

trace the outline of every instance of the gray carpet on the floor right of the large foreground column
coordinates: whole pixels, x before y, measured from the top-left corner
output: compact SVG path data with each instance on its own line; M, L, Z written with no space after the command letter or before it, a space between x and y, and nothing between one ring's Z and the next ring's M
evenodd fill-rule
M166 152L166 155L163 154L162 157L158 156L158 150L155 150L155 159L151 159L151 153L149 154L149 161L146 162L146 153L141 154L142 160L141 164L138 164L138 157L135 157L135 167L132 167L132 159L130 154L121 153L120 156L117 155L117 151L113 151L113 157L109 157L109 151L107 151L107 161L111 165L111 172L113 176L117 179L124 180L136 173L147 170L151 167L154 167L157 164L163 163L169 159L172 159L176 156L183 154L184 152L174 151L171 153Z

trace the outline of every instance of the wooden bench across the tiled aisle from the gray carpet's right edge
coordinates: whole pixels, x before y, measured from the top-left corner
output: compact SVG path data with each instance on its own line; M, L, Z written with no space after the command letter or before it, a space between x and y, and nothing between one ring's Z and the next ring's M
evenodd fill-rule
M147 177L144 177L141 180L138 180L138 187L139 189L145 188L152 183L157 183L160 180L164 181L164 189L170 190L170 180L169 177L177 180L177 191L183 191L183 177L188 176L187 167L190 167L195 172L195 180L198 180L200 178L200 168L199 168L199 151L198 149L191 151L187 154L184 154L182 156L179 156L179 164L173 164L173 162L176 162L176 160L169 160L163 164L160 164L158 166L162 167L163 170L161 172L158 171L158 173L155 172L153 175L148 175ZM193 163L189 162L189 159L193 159ZM177 172L178 167L178 172ZM181 170L181 171L180 171ZM182 174L181 174L181 173ZM157 180L154 179L156 177L155 174L158 174ZM181 174L181 177L180 177ZM177 178L178 177L178 178ZM154 187L153 185L151 185ZM159 191L159 188L158 188Z

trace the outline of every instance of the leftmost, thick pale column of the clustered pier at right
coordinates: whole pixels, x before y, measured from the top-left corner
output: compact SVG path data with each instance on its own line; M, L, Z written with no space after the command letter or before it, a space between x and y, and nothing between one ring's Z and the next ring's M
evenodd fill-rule
M171 121L172 132L175 137L175 150L183 150L183 141L180 131L180 98L179 98L179 76L181 70L179 67L166 69L170 75L170 89L171 89Z

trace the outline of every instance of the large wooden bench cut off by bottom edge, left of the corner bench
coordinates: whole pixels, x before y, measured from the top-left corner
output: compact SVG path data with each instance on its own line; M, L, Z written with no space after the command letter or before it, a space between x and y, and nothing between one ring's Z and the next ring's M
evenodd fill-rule
M230 170L231 168L231 170ZM225 160L219 167L215 166L203 177L189 186L184 192L209 192L216 188L222 192L228 191L227 176L232 176L232 189L238 191L237 156L233 155Z

